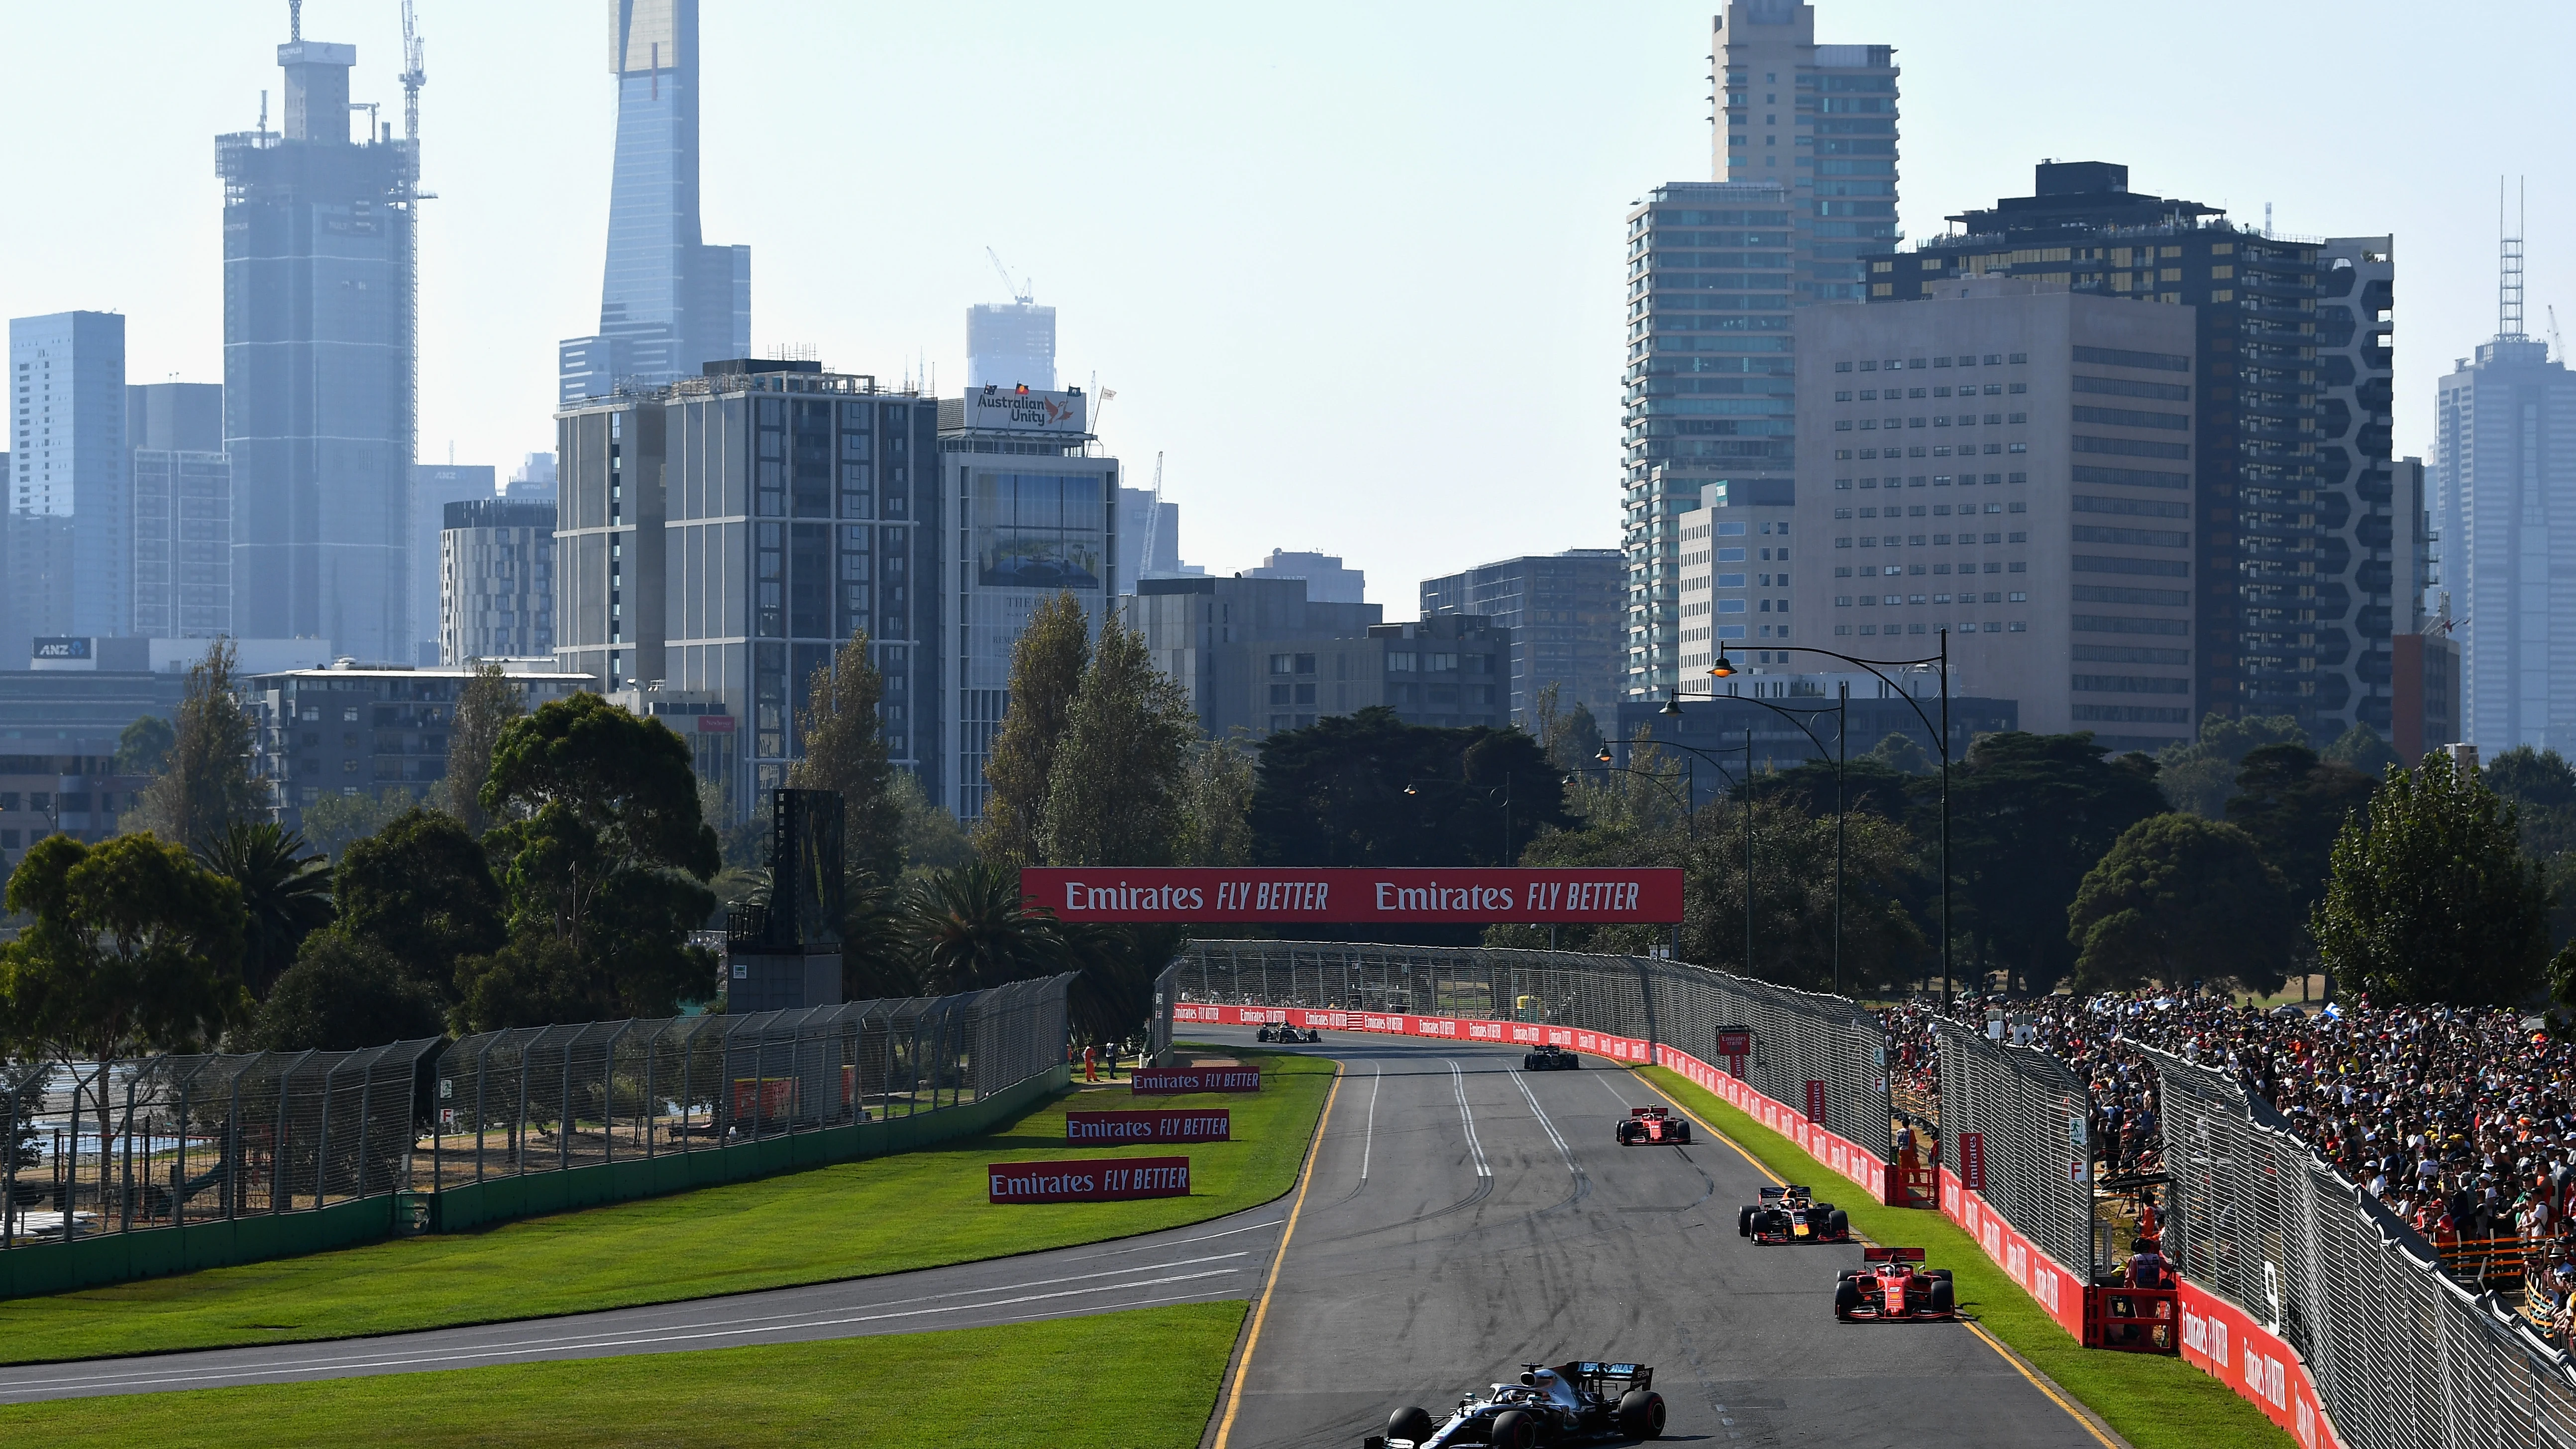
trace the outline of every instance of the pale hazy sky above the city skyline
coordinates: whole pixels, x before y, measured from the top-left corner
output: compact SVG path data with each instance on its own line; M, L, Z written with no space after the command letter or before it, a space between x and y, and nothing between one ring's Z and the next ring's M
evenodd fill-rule
M1618 540L1620 237L1708 180L1708 15L1620 5L958 8L706 0L706 239L752 245L752 347L963 381L994 247L1182 556L1425 577ZM394 0L312 0L402 111ZM278 93L283 3L10 0L0 314L126 314L129 378L222 381L214 134ZM598 324L603 0L420 0L420 456L551 448L554 342ZM2496 178L2530 175L2530 317L2568 301L2566 5L1826 0L1899 46L1901 219L2040 157L2287 234L2396 234L2398 453L2496 329ZM276 108L276 95L270 98Z

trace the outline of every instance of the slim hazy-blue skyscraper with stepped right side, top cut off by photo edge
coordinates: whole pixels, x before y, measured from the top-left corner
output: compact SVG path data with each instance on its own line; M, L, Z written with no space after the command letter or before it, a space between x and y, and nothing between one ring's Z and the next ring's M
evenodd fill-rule
M618 154L600 332L559 350L559 404L698 376L752 353L752 250L698 229L698 0L613 0Z

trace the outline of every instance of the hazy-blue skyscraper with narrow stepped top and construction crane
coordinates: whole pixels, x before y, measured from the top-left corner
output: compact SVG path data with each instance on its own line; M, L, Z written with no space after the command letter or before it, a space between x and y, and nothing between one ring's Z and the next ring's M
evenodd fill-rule
M420 147L392 126L350 139L358 46L296 36L278 64L283 131L214 139L232 623L410 664Z

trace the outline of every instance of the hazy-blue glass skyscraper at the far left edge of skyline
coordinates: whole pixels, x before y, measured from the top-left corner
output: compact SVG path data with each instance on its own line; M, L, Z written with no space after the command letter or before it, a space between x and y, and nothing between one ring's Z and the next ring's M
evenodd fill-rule
M129 633L126 319L15 317L8 350L18 443L8 561L15 646L46 633Z

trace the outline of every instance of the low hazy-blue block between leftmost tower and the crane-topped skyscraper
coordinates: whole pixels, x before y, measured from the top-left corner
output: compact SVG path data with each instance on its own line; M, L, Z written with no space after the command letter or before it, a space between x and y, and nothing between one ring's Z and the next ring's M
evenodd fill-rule
M126 389L134 448L134 633L232 633L232 458L219 383Z

